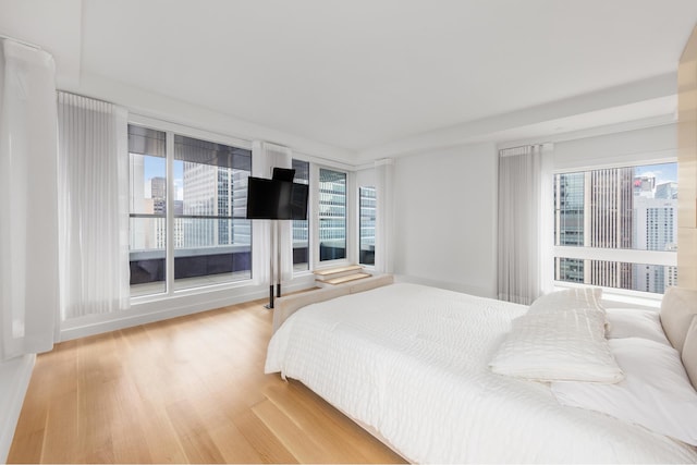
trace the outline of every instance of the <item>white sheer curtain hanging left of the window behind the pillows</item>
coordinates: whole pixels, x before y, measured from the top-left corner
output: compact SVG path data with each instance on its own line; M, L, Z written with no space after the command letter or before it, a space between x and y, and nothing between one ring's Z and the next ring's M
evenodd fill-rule
M551 145L499 152L498 295L529 305L551 284Z

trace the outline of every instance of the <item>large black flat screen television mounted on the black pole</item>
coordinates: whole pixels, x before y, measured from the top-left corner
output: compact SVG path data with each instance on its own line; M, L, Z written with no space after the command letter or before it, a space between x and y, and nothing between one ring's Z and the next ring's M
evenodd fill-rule
M306 220L307 184L247 178L247 219Z

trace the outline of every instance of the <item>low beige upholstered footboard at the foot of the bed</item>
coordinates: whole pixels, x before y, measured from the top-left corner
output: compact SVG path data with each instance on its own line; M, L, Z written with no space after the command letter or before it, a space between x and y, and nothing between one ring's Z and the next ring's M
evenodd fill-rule
M276 332L291 315L307 305L341 297L342 295L369 291L375 287L392 284L393 282L394 277L392 274L378 274L364 278L359 281L348 281L343 284L332 285L331 287L322 287L279 297L273 307L273 332Z

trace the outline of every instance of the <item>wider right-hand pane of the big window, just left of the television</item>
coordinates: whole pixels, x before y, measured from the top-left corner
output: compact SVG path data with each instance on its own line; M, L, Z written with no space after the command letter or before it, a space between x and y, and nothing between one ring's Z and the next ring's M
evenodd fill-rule
M174 289L252 278L252 152L174 135Z

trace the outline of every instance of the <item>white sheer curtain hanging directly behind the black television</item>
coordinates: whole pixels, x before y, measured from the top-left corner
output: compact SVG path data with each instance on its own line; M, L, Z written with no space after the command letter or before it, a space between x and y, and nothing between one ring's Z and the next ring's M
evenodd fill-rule
M270 179L273 168L293 168L293 152L290 148L268 142L255 140L252 144L252 175ZM278 223L278 224L276 224ZM257 284L271 282L270 260L277 262L277 249L271 249L272 225L278 227L279 241L276 242L281 253L281 281L293 279L293 237L291 220L254 220L252 227L254 281ZM260 244L260 246L259 246ZM274 265L276 267L276 265Z

